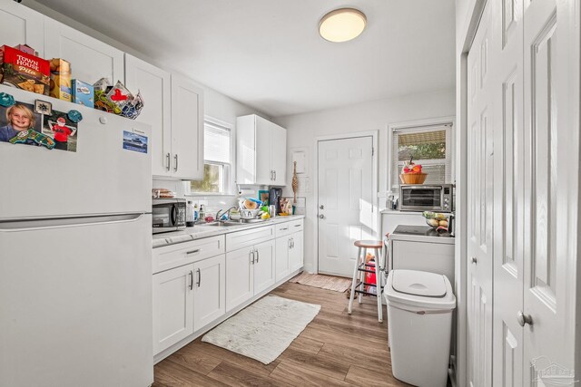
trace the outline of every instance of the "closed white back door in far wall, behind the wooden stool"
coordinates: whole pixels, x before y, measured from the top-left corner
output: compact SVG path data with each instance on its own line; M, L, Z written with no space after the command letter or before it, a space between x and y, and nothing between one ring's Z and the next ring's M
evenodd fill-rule
M357 248L373 238L373 138L319 141L319 272L352 276Z

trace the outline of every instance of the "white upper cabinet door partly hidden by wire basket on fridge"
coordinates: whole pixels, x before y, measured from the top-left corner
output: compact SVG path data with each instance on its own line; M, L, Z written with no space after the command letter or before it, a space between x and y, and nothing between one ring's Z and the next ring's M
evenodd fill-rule
M125 53L125 85L141 92L145 107L136 121L152 126L153 176L172 176L172 84L170 73Z

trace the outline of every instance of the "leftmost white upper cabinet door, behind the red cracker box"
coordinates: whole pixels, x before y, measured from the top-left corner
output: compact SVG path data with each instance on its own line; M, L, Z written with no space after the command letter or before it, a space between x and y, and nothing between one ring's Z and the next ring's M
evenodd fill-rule
M0 44L28 44L41 58L44 57L44 15L5 0L0 5L0 21Z

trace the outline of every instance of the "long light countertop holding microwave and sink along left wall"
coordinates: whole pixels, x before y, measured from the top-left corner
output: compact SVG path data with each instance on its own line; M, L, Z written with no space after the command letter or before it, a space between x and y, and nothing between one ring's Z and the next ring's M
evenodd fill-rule
M208 226L195 225L194 227L186 227L182 231L172 231L162 234L153 235L153 248L169 246L175 243L188 242L190 240L201 239L202 237L215 237L217 235L229 234L231 232L246 230L249 228L271 226L277 223L290 222L305 218L304 215L290 215L288 217L276 217L264 220L257 223L241 224L236 226Z

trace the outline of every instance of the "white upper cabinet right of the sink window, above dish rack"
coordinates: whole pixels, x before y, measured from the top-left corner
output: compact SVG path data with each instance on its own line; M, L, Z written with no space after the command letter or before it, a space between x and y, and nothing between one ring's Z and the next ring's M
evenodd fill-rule
M287 131L256 114L236 120L237 183L286 184Z

